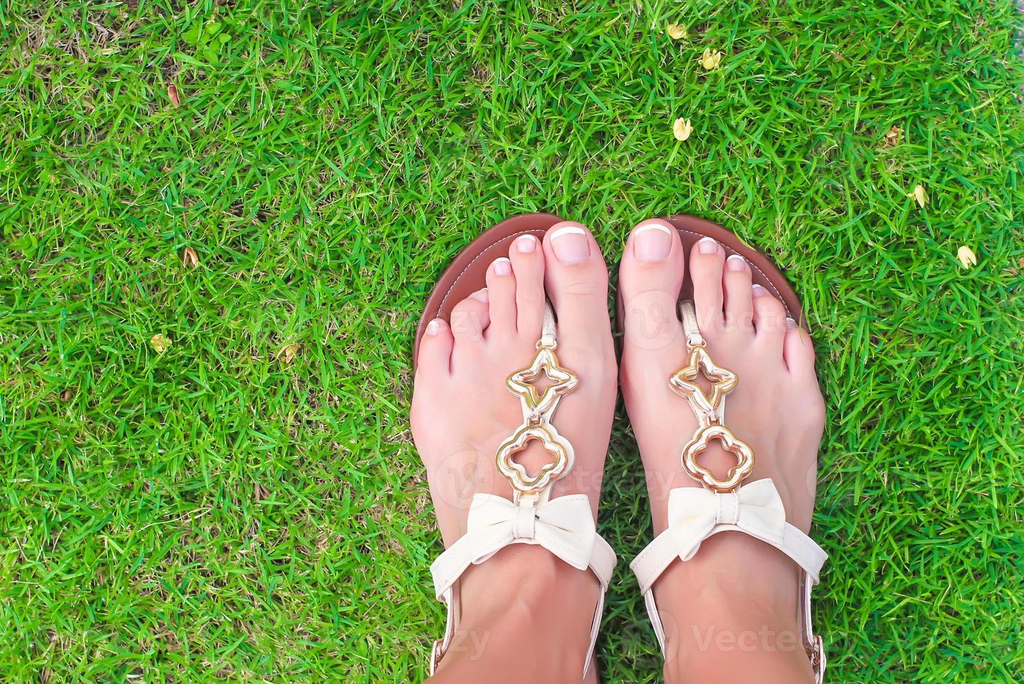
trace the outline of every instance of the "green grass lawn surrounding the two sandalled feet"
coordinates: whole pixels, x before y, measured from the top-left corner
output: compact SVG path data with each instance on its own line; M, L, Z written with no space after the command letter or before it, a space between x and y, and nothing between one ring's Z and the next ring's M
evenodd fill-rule
M803 294L831 681L1019 681L1017 24L1011 0L0 3L0 679L422 678L414 328L474 234L544 210L612 260L647 216L706 216ZM628 560L650 525L625 420L609 462ZM625 562L599 650L606 681L659 679Z

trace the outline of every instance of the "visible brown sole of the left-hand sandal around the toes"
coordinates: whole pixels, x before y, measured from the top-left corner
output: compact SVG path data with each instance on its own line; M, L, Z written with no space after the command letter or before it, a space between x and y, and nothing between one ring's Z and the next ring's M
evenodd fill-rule
M413 346L413 371L420 355L420 340L427 324L434 318L451 322L452 309L466 297L486 287L487 267L495 259L507 256L508 248L520 236L534 236L543 240L551 226L560 223L554 214L519 214L487 228L449 264L437 279L434 289L427 298L420 325L416 328L416 342ZM540 245L538 245L540 248Z

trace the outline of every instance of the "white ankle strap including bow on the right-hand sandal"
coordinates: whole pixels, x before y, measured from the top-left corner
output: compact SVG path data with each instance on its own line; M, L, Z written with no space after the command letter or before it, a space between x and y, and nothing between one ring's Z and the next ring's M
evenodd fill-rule
M692 558L709 537L736 530L770 544L804 569L801 592L804 645L818 672L817 662L824 656L820 639L813 637L811 631L810 587L818 583L818 573L828 556L811 538L785 521L785 509L775 483L770 479L757 480L732 493L678 487L669 493L668 513L669 527L630 563L663 652L665 631L654 604L654 583L676 558L683 561Z

